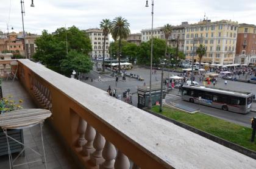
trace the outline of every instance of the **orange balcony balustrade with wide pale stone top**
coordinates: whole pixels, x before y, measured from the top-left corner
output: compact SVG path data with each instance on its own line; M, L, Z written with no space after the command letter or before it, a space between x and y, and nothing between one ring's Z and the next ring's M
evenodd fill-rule
M101 89L29 60L18 62L21 84L39 107L52 111L49 121L85 168L256 166L250 157L110 97Z

